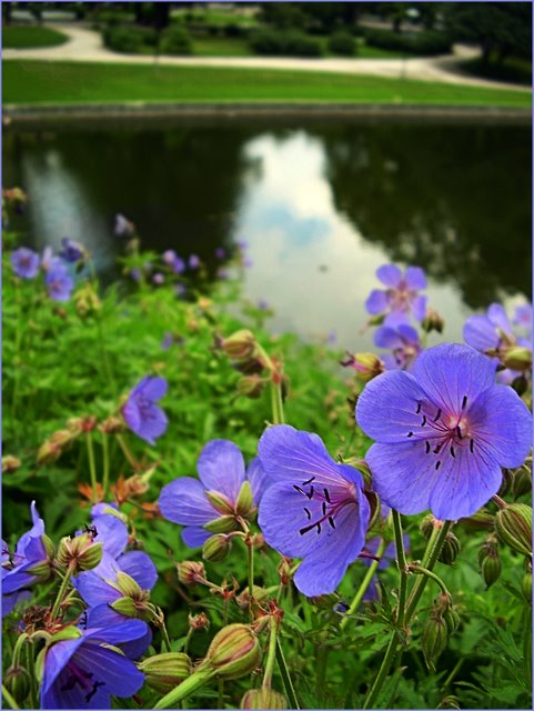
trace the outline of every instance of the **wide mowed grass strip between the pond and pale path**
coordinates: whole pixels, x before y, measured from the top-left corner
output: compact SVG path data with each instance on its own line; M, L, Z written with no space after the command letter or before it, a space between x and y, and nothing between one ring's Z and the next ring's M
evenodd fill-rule
M3 102L314 101L530 107L532 93L314 71L7 60Z

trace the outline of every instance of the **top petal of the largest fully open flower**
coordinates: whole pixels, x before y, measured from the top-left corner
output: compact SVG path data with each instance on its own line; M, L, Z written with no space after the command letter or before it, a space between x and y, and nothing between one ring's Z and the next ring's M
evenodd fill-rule
M437 407L457 414L464 397L472 403L494 384L495 363L468 346L443 343L423 351L412 374Z

